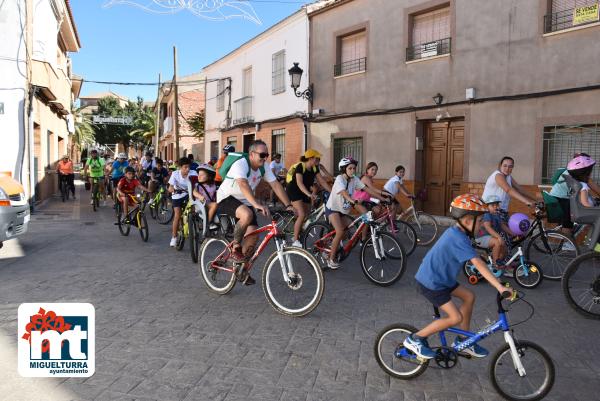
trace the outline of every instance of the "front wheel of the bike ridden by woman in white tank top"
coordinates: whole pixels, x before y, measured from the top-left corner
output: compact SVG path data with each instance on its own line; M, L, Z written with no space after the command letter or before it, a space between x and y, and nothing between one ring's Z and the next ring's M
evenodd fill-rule
M525 259L535 260L544 266L544 277L560 280L566 266L579 255L577 245L566 235L546 231L534 236L525 249Z

